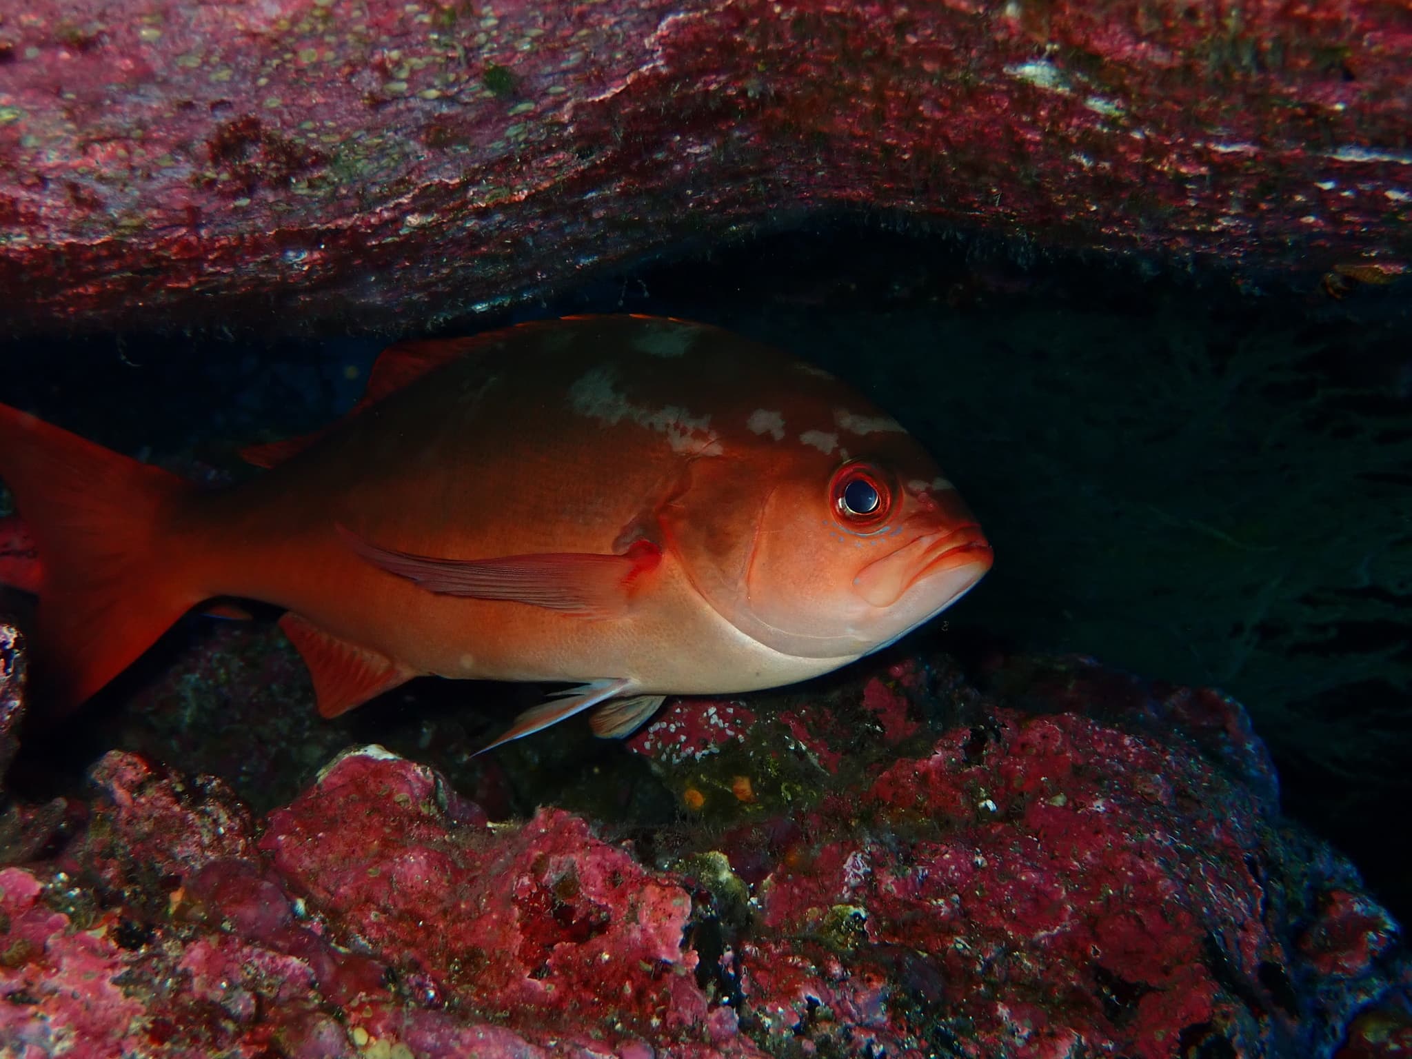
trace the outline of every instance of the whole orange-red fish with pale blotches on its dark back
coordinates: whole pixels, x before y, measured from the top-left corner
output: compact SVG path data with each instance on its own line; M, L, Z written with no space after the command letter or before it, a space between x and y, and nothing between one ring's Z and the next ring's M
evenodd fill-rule
M345 417L243 455L265 470L198 487L0 404L52 710L188 611L257 600L284 610L325 717L426 675L569 683L483 750L585 710L623 737L671 695L849 665L993 563L897 419L675 318L397 343Z

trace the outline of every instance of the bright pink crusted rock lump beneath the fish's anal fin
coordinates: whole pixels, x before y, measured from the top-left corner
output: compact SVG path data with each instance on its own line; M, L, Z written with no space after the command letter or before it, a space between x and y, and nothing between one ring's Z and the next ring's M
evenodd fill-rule
M681 885L578 816L541 809L490 827L456 820L438 788L385 751L347 754L271 815L261 847L342 933L425 976L438 998L570 1038L705 1032Z

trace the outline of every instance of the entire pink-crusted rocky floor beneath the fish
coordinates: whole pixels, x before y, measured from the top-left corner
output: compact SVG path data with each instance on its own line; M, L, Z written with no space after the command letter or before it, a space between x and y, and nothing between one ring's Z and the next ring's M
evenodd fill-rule
M110 751L7 847L0 1055L1398 1053L1398 926L1237 703L1082 658L986 683L669 702L618 751L659 825L494 823L376 746L256 820Z

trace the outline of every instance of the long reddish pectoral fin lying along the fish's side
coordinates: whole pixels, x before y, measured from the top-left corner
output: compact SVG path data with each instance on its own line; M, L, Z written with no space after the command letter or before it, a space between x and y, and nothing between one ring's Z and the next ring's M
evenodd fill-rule
M662 559L662 549L651 541L637 541L621 555L558 552L439 559L381 548L342 525L339 535L374 566L441 596L513 600L599 618L623 614L633 586Z

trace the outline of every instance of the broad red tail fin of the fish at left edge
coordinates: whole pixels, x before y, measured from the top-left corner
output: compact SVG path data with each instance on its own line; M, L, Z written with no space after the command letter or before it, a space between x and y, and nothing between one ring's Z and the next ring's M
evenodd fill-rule
M3 404L0 480L41 559L31 672L45 705L68 710L201 602L165 532L193 487Z

